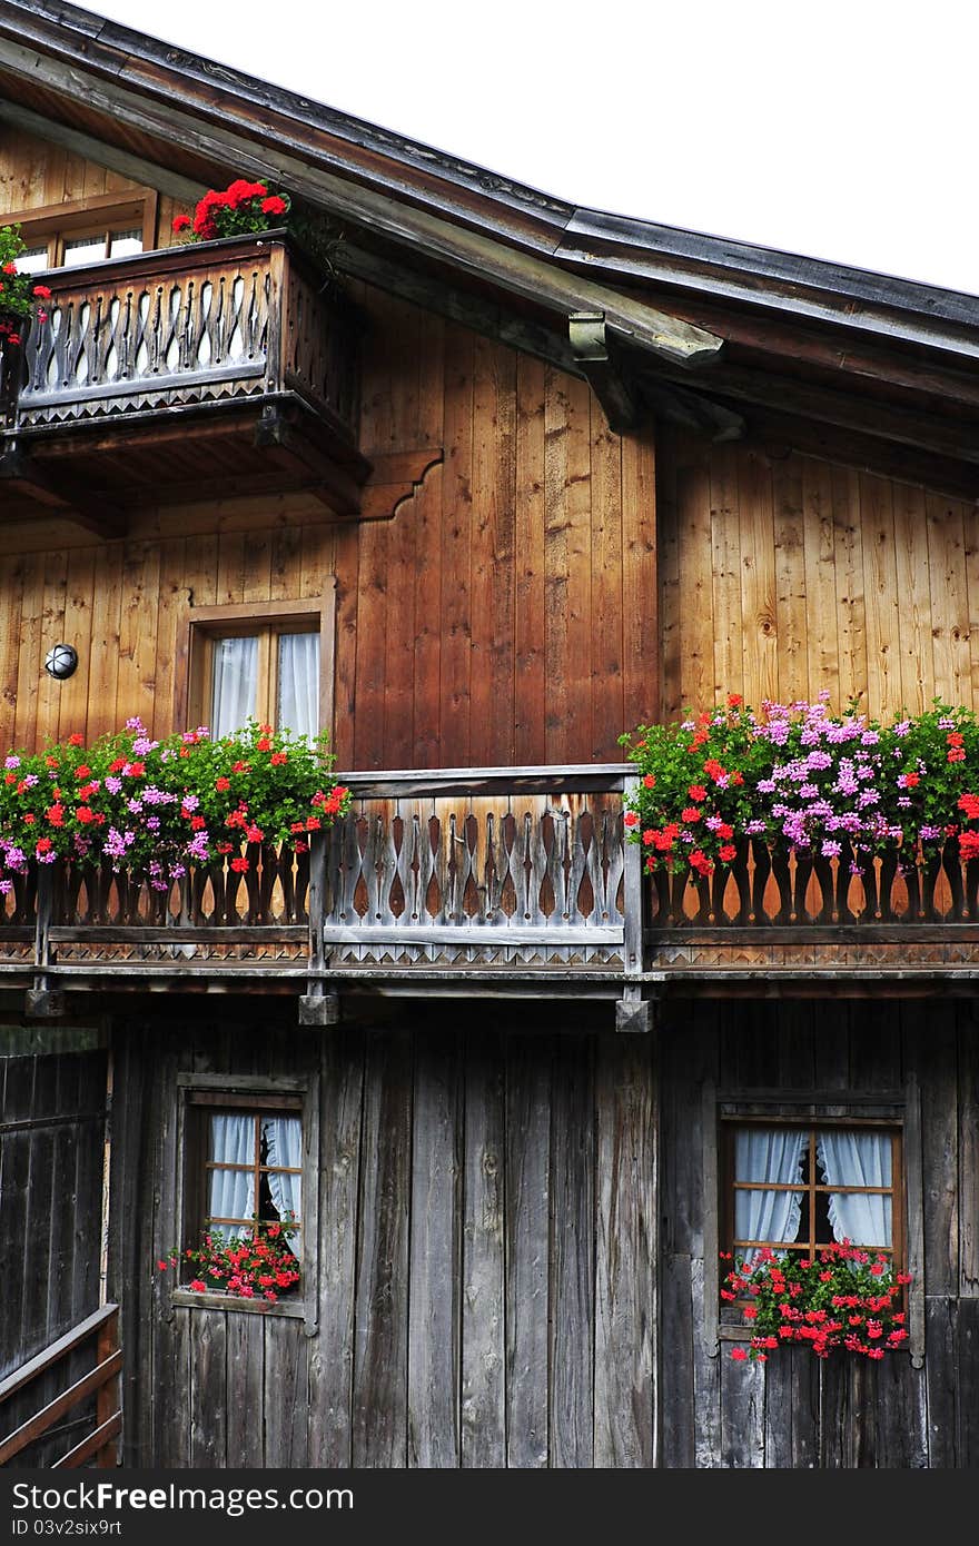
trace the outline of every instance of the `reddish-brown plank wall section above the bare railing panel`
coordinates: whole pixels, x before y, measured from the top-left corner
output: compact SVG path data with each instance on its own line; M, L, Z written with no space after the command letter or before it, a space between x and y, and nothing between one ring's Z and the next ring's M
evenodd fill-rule
M654 697L653 434L574 377L371 301L362 447L441 453L337 536L345 765L591 762Z

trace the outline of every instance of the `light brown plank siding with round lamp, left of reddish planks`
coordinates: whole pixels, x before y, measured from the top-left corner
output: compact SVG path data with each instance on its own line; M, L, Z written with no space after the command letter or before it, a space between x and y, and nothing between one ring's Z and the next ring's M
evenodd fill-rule
M133 524L125 541L76 538L77 546L22 552L5 564L5 747L32 748L73 731L94 739L130 714L155 734L184 728L176 720L195 606L319 603L333 583L334 527L316 501L240 501L229 510L195 507ZM29 536L39 540L37 532ZM79 668L56 682L43 660L62 638L79 651Z

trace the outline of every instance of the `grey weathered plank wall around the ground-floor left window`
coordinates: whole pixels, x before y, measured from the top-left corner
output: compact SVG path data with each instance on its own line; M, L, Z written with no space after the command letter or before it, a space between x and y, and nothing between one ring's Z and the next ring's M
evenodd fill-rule
M316 1042L268 1017L121 1030L127 1464L654 1463L653 1048L597 1033L606 1006L544 1036L521 1014L425 1005ZM178 1070L317 1068L319 1330L169 1306Z

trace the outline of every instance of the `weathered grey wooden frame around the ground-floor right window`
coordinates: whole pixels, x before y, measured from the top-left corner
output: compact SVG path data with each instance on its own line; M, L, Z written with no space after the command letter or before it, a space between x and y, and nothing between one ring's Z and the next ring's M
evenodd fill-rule
M908 1288L908 1353L914 1368L925 1362L925 1197L922 1115L917 1081L909 1076L903 1090L865 1095L861 1091L718 1091L704 1087L704 1343L711 1357L722 1342L744 1342L750 1328L739 1319L728 1322L721 1314L721 1251L728 1249L727 1209L733 1209L733 1194L725 1186L725 1127L738 1122L773 1127L872 1127L885 1125L900 1135L902 1175L894 1184L892 1248L900 1269L911 1274ZM827 1189L832 1190L832 1189ZM838 1187L835 1189L838 1190ZM900 1215L900 1217L899 1217ZM899 1255L900 1249L900 1255Z

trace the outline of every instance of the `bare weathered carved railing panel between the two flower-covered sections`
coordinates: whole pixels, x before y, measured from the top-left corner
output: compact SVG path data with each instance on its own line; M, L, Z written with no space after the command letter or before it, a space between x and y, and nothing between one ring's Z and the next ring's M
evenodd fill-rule
M523 787L513 773L479 775L455 793L435 781L419 792L424 775L404 781L404 795L360 795L328 835L329 966L622 971L622 781L575 790L555 775L554 788L540 773Z

